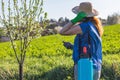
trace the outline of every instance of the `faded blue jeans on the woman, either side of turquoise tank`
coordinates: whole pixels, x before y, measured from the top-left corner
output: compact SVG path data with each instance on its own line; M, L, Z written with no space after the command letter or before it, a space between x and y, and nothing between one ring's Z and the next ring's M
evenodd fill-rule
M78 65L75 64L74 65L74 79L75 80L78 80ZM101 70L95 70L94 69L94 72L93 72L93 80L99 80L100 79L100 75L101 75Z

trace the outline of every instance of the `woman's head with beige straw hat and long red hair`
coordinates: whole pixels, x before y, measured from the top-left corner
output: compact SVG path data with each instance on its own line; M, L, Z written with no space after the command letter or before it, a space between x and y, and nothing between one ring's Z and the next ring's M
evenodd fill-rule
M97 17L95 17L98 16L99 13L97 10L93 9L92 3L82 2L80 3L79 6L75 6L72 9L72 12L75 14L78 14L79 12L85 12L87 16L86 18L83 19L83 21L92 21L96 25L96 28L98 29L100 36L102 36L103 27L101 21Z

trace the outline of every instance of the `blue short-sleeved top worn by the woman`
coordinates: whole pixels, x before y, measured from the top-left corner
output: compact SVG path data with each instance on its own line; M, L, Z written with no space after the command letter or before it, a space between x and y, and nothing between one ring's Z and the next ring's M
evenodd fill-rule
M74 63L78 62L79 56L82 53L82 47L86 46L88 48L88 53L91 54L93 68L100 70L102 63L102 41L98 30L90 21L83 22L79 25L82 29L82 34L77 34L74 39L73 61Z

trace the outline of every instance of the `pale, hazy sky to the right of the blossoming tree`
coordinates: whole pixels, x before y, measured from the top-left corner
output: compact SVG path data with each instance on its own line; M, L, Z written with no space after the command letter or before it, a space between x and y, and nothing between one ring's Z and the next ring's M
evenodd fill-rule
M45 0L44 11L48 13L48 18L67 17L72 19L76 15L71 9L86 1L92 3L93 8L99 11L98 17L103 19L107 19L107 16L113 13L120 14L120 0Z

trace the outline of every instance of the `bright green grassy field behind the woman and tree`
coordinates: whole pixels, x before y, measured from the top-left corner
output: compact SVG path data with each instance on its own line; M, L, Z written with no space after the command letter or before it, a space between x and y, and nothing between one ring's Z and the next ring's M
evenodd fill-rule
M73 80L72 51L62 41L75 36L34 39L24 64L24 80ZM120 25L104 27L101 80L120 80ZM0 43L0 80L18 80L18 64L9 42Z

